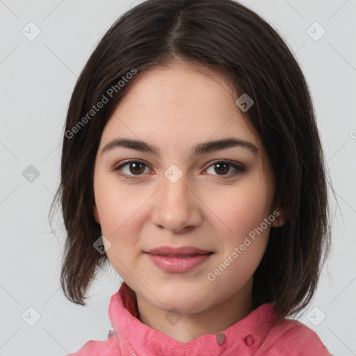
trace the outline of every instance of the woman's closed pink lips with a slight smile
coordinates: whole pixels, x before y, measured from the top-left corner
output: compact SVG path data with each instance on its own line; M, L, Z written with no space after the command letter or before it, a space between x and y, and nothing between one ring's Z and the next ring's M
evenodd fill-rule
M193 246L181 248L161 246L145 252L157 267L168 273L184 273L193 270L204 261L207 261L213 253Z

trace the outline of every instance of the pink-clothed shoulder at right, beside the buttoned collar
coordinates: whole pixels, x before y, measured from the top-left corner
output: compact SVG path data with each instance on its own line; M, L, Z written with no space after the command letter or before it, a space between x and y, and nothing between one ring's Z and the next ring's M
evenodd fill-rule
M294 320L272 327L257 355L333 356L314 330Z

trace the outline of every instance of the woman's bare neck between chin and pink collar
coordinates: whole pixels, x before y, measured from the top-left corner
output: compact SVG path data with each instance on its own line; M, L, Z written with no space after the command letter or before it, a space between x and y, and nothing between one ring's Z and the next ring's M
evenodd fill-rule
M181 315L178 323L167 320L167 311L137 296L139 319L173 339L187 343L205 334L218 334L252 312L252 279L234 295L195 314ZM180 316L179 316L180 317Z

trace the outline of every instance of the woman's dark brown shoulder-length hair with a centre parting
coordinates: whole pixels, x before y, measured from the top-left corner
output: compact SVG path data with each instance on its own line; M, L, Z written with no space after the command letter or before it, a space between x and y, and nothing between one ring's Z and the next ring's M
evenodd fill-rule
M95 156L106 122L140 74L175 60L215 70L254 101L242 114L264 145L275 178L273 202L286 220L270 228L252 300L254 308L272 303L280 322L307 307L316 291L330 250L329 179L300 66L272 26L233 0L144 1L124 13L92 52L68 106L60 185L50 209L60 202L67 232L62 289L68 300L86 305L92 280L108 262L93 248L102 234L92 212ZM108 102L84 120L103 95Z

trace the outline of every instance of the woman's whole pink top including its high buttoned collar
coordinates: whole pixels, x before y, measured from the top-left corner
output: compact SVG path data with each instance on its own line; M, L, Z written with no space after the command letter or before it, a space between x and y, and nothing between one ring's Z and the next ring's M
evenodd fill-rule
M113 325L108 339L90 340L71 356L332 356L318 335L299 321L273 326L275 311L269 303L220 334L205 334L188 343L142 323L125 282L111 297L108 316Z

